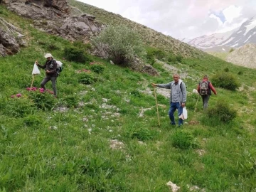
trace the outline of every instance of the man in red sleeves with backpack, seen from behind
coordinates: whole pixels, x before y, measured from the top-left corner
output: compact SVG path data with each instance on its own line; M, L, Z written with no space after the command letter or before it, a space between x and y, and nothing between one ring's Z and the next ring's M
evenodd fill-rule
M210 99L211 90L217 95L217 92L210 81L208 81L208 76L204 75L203 80L198 83L198 93L201 95L203 100L203 110L206 110L208 107L208 101Z

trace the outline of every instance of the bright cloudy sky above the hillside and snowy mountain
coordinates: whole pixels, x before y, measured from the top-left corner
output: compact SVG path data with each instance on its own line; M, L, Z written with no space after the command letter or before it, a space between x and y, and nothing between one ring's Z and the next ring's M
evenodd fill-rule
M256 17L256 0L78 0L164 33L196 38L238 28Z

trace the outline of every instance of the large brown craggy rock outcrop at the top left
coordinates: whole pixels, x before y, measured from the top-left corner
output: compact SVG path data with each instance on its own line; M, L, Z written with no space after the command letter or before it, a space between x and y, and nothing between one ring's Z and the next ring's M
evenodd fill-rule
M72 16L72 7L66 0L4 0L8 9L23 17L32 18L33 25L41 31L61 36L69 41L90 41L91 36L100 33L100 23L95 16L80 13ZM78 11L78 10L76 10Z

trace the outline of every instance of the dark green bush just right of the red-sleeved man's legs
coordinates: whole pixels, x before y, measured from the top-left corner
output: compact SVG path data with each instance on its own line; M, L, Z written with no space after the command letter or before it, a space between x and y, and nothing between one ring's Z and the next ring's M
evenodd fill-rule
M220 122L228 123L235 119L237 112L228 106L228 102L219 100L214 107L210 107L207 110L209 118L219 119Z

